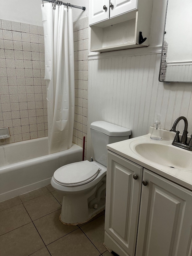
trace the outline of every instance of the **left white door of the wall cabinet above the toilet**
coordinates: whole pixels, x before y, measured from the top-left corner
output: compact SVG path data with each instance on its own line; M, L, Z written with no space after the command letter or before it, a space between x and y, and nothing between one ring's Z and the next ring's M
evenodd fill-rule
M89 25L109 19L110 0L89 1Z

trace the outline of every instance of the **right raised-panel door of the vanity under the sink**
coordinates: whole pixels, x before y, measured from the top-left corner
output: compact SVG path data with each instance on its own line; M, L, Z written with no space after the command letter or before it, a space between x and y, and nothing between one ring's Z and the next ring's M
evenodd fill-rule
M136 256L188 256L192 192L144 169Z

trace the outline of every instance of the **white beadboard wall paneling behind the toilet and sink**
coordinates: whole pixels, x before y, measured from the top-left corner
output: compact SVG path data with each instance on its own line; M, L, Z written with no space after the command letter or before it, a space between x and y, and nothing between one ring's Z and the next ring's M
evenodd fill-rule
M186 116L191 134L192 83L159 82L160 53L109 56L89 60L88 126L104 120L130 128L132 137L137 137L147 134L155 114L161 113L163 129L170 130L176 118ZM179 131L183 128L180 122ZM89 131L87 151L89 159Z

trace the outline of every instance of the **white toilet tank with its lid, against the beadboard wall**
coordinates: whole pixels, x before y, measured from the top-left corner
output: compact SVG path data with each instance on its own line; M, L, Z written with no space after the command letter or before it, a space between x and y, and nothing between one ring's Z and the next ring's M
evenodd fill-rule
M90 128L94 158L107 166L107 144L128 140L131 130L105 121L93 122Z

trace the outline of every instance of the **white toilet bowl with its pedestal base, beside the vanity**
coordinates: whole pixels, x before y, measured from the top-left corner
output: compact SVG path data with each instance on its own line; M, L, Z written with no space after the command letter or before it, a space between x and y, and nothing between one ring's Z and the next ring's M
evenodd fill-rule
M51 179L53 188L60 194L63 194L60 221L67 225L84 223L105 209L107 167L96 161L82 161L74 164L67 164L67 166L60 167L59 169L64 173L65 168L72 165L71 167L73 167L74 170L79 170L79 164L81 163L85 163L85 165L89 163L89 167L92 165L92 167L95 167L95 170L98 170L98 173L96 171L96 175L94 175L94 179L92 179L92 177L88 178L87 176L87 182L82 181L79 182L80 184L73 183L67 185L58 182L54 175ZM98 190L98 188L100 189Z

